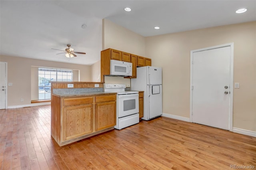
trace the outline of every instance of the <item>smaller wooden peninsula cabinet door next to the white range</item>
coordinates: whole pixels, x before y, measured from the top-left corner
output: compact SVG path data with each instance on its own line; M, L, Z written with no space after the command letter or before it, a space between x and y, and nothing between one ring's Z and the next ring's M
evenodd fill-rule
M95 106L95 130L116 125L116 102L97 103Z

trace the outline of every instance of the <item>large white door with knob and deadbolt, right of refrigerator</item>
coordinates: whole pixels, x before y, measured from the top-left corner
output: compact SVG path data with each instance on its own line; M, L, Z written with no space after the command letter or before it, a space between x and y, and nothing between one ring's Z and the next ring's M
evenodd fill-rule
M192 122L229 130L230 46L194 52L192 67Z

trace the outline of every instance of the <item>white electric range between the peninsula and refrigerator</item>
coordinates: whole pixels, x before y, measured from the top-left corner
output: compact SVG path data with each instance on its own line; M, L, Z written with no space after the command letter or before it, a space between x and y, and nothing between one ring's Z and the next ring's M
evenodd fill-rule
M125 84L104 84L104 91L116 92L116 129L139 123L139 92L125 91Z

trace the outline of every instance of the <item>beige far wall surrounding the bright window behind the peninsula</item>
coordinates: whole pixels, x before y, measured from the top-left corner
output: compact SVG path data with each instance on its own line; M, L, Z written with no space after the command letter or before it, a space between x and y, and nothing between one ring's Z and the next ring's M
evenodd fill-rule
M8 86L8 106L28 105L31 103L31 90L33 90L31 87L31 76L34 74L31 72L31 66L77 69L80 70L80 81L92 81L91 67L88 65L5 55L0 55L0 61L8 63L8 83L13 83L12 86ZM24 101L21 102L20 99L24 99Z

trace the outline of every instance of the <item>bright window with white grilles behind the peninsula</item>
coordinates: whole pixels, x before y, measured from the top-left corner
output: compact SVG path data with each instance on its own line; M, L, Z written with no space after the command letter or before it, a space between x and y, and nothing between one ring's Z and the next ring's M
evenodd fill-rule
M73 81L73 71L64 69L38 68L38 99L51 99L49 81Z

